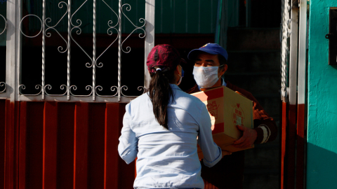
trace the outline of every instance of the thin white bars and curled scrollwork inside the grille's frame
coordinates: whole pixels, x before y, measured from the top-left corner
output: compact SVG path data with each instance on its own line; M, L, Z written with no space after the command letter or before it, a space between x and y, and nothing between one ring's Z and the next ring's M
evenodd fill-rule
M74 20L74 22L72 22L73 18L74 18L74 15L77 14L79 12L79 10L81 8L84 7L84 5L87 3L88 0L83 0L84 2L81 3L81 6L79 6L79 8L77 8L76 11L74 11L74 13L71 13L70 11L70 8L71 8L71 4L70 3L66 3L65 0L61 0L60 3L58 3L58 8L60 8L60 11L63 12L61 15L62 17L60 18L60 20L53 20L55 22L52 22L52 18L46 18L46 7L45 7L45 3L43 5L43 18L39 18L37 15L32 15L32 14L29 14L29 15L26 15L25 17L23 17L21 20L20 20L20 32L22 33L23 36L26 36L26 37L29 37L29 38L34 38L34 37L37 37L39 36L39 34L41 34L42 32L42 38L43 38L43 46L44 46L44 38L45 36L46 37L51 37L51 35L53 34L53 31L51 31L52 29L54 31L56 31L56 33L62 38L63 41L65 41L65 43L61 43L60 46L58 46L58 52L60 53L64 53L64 52L68 52L68 57L67 57L67 85L60 85L60 93L62 94L50 94L53 90L52 90L52 86L51 85L44 85L44 48L43 48L43 65L42 65L42 70L43 70L43 73L42 73L42 85L36 85L35 86L35 89L36 90L39 90L39 93L37 94L22 94L22 92L25 92L25 89L26 89L26 86L25 85L20 85L19 86L19 94L21 95L25 95L25 96L37 96L37 95L42 95L42 97L44 98L44 94L48 95L48 96L65 96L67 95L68 99L70 99L70 96L73 96L73 97L90 97L90 96L93 96L93 101L95 101L95 95L99 96L99 97L119 97L119 100L120 100L120 97L137 97L137 96L128 96L126 94L123 94L123 92L126 92L128 90L128 87L126 85L124 86L121 86L121 54L122 52L124 53L128 53L128 52L131 52L131 47L130 46L126 46L124 47L123 49L123 45L124 45L124 42L126 40L128 40L128 38L130 38L131 34L134 34L134 33L138 33L138 36L139 38L145 38L146 36L146 32L145 32L145 19L144 18L140 18L139 19L139 23L138 23L138 20L136 20L135 23L133 23L129 18L128 16L126 15L126 11L131 11L131 5L128 4L128 3L125 3L123 6L121 6L121 1L119 0L119 12L118 14L112 9L112 7L106 3L105 1L106 0L102 0L103 3L105 3L105 5L110 8L110 10L112 10L112 12L114 13L114 15L117 16L117 22L115 21L112 21L112 20L115 20L115 18L111 18L110 20L108 20L107 22L107 34L109 36L112 36L112 35L115 35L117 34L116 38L111 38L112 40L112 43L110 43L110 45L97 57L95 58L96 54L95 54L95 48L96 48L96 44L95 44L95 29L96 29L96 9L95 9L95 6L96 6L96 0L93 1L93 56L89 56L89 53L86 52L86 50L84 50L84 48L81 47L81 45L79 45L79 43L77 41L79 41L79 39L77 39L77 41L74 40L74 37L76 38L77 36L74 36L73 35L80 35L81 32L82 32L82 29L84 27L84 25L82 24L85 24L84 22L82 23L81 19L77 19L76 22ZM68 1L70 2L70 1ZM64 8L67 8L67 10L64 12ZM125 13L124 13L125 12ZM133 31L128 34L128 36L126 36L126 38L124 38L124 41L122 41L122 37L121 37L121 17L123 14L126 18L126 22L131 22L131 25L133 25ZM68 18L67 18L67 22L68 22L68 30L67 30L67 33L68 33L68 41L65 39L65 37L63 37L60 32L58 31L58 26L60 25L60 23L62 22L63 19L65 19L66 15L68 15ZM37 17L40 22L41 22L41 29L39 32L36 32L34 34L34 36L29 36L28 34L24 34L23 31L22 31L22 22L25 18L27 17ZM113 14L112 14L113 16ZM4 16L1 15L1 17L4 18ZM113 16L114 17L114 16ZM76 18L76 16L75 16ZM6 21L6 18L4 18L4 20ZM56 22L57 21L57 22ZM55 23L55 25L54 25ZM140 26L137 26L137 25L140 25ZM7 27L7 22L6 22L6 27ZM5 27L5 29L6 29ZM106 25L105 25L106 27ZM4 29L4 31L5 31ZM140 29L141 31L137 32L136 30ZM114 33L114 30L117 31L117 33ZM0 34L4 33L4 31L1 31ZM38 33L38 34L37 34ZM76 33L76 34L74 34ZM77 90L77 86L76 85L70 85L70 43L71 41L74 41L74 43L76 43L78 45L78 47L85 53L85 55L90 59L90 61L88 60L88 62L86 62L86 67L88 68L93 68L93 85L86 85L85 89L86 91L88 92L85 92L84 89L84 94L82 94L82 92L79 92L80 94L82 95L77 95L77 94L74 94L73 92L75 92ZM108 89L106 88L104 91L103 91L103 87L101 85L98 85L98 86L95 86L95 76L96 76L96 73L95 73L95 67L103 67L103 62L98 62L102 59L100 59L103 54L105 54L105 52L107 52L107 50L109 50L112 45L114 43L116 43L116 41L118 41L118 48L119 48L119 73L118 73L118 86L112 86L110 87L110 93L112 95L103 95L103 94L99 94L99 93L104 93L105 91L108 91ZM80 42L80 41L79 41ZM66 48L65 46L63 46L62 44L65 44L66 45ZM6 83L2 82L0 83L0 87L1 89L3 88L3 86L5 87L5 89L3 91L0 91L0 92L4 92L6 90ZM34 89L33 89L34 90ZM138 87L138 91L139 93L140 92L145 92L145 88L143 86L140 86ZM30 91L30 90L29 90ZM35 90L34 90L35 91ZM64 92L65 91L65 92ZM80 90L82 91L82 90ZM27 92L27 91L26 91ZM48 93L49 92L49 93ZM64 93L63 93L64 92ZM85 93L89 93L90 94L85 94ZM77 93L77 92L75 92ZM128 92L126 92L128 93Z

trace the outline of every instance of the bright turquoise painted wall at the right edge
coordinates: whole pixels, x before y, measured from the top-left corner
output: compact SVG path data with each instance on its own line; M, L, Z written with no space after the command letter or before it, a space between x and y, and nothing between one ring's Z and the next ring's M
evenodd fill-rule
M337 188L337 66L328 65L329 7L310 0L307 188Z

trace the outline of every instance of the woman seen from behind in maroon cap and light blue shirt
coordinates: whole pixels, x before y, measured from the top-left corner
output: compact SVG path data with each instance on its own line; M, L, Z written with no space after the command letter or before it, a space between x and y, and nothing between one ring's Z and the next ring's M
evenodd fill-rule
M213 142L205 104L178 87L183 62L171 45L152 48L149 92L126 105L118 151L127 164L137 158L134 188L204 188L197 144L208 167L228 155Z

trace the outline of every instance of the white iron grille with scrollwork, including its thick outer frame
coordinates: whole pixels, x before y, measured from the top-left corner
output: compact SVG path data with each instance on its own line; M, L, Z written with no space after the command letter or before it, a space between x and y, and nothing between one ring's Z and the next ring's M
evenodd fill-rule
M88 1L88 0L86 0ZM84 1L84 3L86 3L86 1ZM22 13L21 13L21 9L22 9L22 3L20 0L15 0L14 3L11 3L11 5L8 4L8 22L9 20L11 20L11 23L13 23L13 27L10 27L7 25L6 23L6 27L8 27L8 31L11 31L11 34L15 33L15 38L12 38L10 40L8 40L7 38L7 43L9 44L8 47L11 47L11 50L7 50L7 60L6 60L6 64L7 64L7 69L6 69L6 73L7 77L6 77L6 81L8 80L8 85L6 85L6 83L1 82L0 86L5 85L5 90L6 92L8 91L8 94L11 94L11 99L13 101L17 100L20 98L21 101L69 101L69 102L79 102L79 101L84 101L84 102L130 102L131 99L134 99L133 97L136 96L127 96L125 94L123 94L122 90L128 90L128 87L126 85L121 85L121 53L124 52L123 50L123 43L128 39L129 36L131 36L131 34L133 34L134 31L136 31L137 29L142 29L144 31L144 34L139 34L140 38L145 38L145 57L147 56L148 52L150 52L150 50L153 48L154 46L154 0L146 0L145 2L145 9L147 14L147 21L150 23L149 27L147 27L146 25L146 21L143 18L139 19L139 22L143 23L144 25L141 27L138 27L136 25L133 24L133 22L131 22L131 20L124 14L123 12L123 6L128 6L126 7L126 10L129 11L131 10L131 6L129 4L124 4L122 6L122 0L119 0L119 14L117 15L117 13L114 12L114 10L112 10L112 8L109 6L109 8L117 15L118 17L118 22L116 25L114 25L113 27L112 25L112 20L110 20L108 22L108 26L109 28L107 29L107 33L109 35L112 35L112 29L115 29L118 34L117 34L117 38L118 38L118 42L119 42L119 52L118 52L118 86L112 86L110 90L112 91L117 91L116 94L114 95L109 95L109 96L103 96L100 94L97 94L96 89L98 90L103 90L103 87L101 86L96 86L95 84L95 69L96 66L97 67L102 67L103 63L100 62L98 64L98 59L100 58L101 55L103 55L103 53L105 53L107 51L107 49L109 49L111 47L111 45L117 41L117 38L109 45L109 47L107 47L107 49L105 49L105 51L101 54L101 55L96 55L96 50L97 50L97 45L96 45L96 29L97 29L97 0L93 0L93 57L90 57L88 55L88 53L81 48L81 46L79 45L79 43L77 43L77 41L74 41L74 38L72 37L72 30L73 29L77 29L76 33L77 34L81 34L81 20L77 20L77 25L74 25L72 23L72 17L74 16L75 13L77 13L77 11L84 6L84 3L81 4L81 6L72 14L71 13L71 0L67 1L68 3L65 3L64 1L61 1L60 3L58 3L59 8L62 8L62 3L65 3L67 5L67 11L65 12L65 14L62 16L62 18L60 20L58 20L58 22L56 23L56 25L58 25L60 23L60 21L65 18L65 15L67 16L67 21L68 21L68 27L67 27L67 41L65 40L65 38L63 38L60 33L57 31L57 29L55 29L56 25L54 25L53 27L49 26L47 23L51 22L51 18L47 18L46 19L46 0L42 1L42 19L39 18L37 15L26 15L24 18L22 18ZM103 2L105 3L105 1L103 0ZM107 3L105 3L107 4ZM108 5L107 5L108 6ZM150 10L150 11L149 11ZM124 41L121 40L121 16L122 14L125 16L125 18L127 20L129 20L131 22L131 24L136 27L135 29L133 29L133 31L131 32L131 34L129 34ZM26 17L29 16L34 16L37 17L40 22L41 22L41 30L39 32L42 33L42 73L41 73L41 85L36 85L35 89L39 90L39 92L37 94L22 94L20 92L20 90L25 90L25 85L22 85L20 82L20 74L21 70L20 70L20 62L21 62L21 53L20 53L20 36L21 34L29 37L29 38L34 38L36 36L39 36L39 34L35 35L35 36L27 36L25 34L23 34L23 32L21 31L21 24L22 24L22 20L24 20ZM4 18L4 16L1 15L1 17ZM5 19L5 18L4 18ZM15 20L15 22L13 22L13 20ZM5 19L6 21L6 19ZM117 25L119 25L119 28L117 30ZM5 27L5 29L6 29ZM16 28L15 28L16 27ZM145 29L143 29L143 27L145 27ZM67 85L61 85L60 88L61 90L65 90L64 94L48 94L47 90L51 90L51 85L46 85L46 37L50 37L51 33L48 32L48 29L54 29L61 37L62 39L65 41L65 43L67 44L67 49L62 51L62 47L58 47L58 51L63 53L65 51L67 51ZM145 31L146 30L146 31ZM14 32L13 32L14 31ZM17 31L17 32L15 32ZM150 36L147 36L147 31L148 34L150 34ZM4 31L1 31L0 34L4 33ZM143 35L143 36L142 36ZM88 95L75 95L72 94L72 90L77 90L77 86L76 85L71 85L70 83L70 46L71 46L71 40L74 41L74 43L76 43L77 45L79 45L79 48L81 48L81 50L89 57L89 59L91 59L91 63L87 62L86 66L88 68L90 68L91 66L93 66L93 85L87 85L86 86L86 90L90 91L91 93ZM130 47L126 47L126 53L130 52L131 48ZM145 62L146 62L145 58ZM8 65L10 64L10 65ZM150 74L147 72L146 66L145 66L145 80L144 80L144 85L148 85L148 83L150 82ZM21 85L20 85L21 84ZM9 86L9 87L6 87ZM13 86L15 86L15 89L13 91ZM141 91L143 90L145 92L145 88L143 86L138 87L138 90ZM11 92L10 92L11 91ZM3 91L1 91L3 92ZM97 94L97 96L96 96ZM39 97L41 95L41 97ZM91 99L91 95L93 95L93 98ZM118 98L105 98L105 97L114 97L115 95L118 95ZM67 97L66 97L67 96ZM70 96L73 96L70 98Z

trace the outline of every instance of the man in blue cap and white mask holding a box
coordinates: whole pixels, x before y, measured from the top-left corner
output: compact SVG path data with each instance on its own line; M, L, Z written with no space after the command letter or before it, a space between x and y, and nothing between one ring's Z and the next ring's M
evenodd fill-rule
M216 43L207 43L199 49L194 49L188 54L188 59L194 62L193 75L197 85L187 90L187 93L199 92L213 87L224 85L231 90L238 91L253 101L254 128L237 126L242 130L243 136L232 144L237 148L248 148L253 144L262 144L273 141L277 137L275 121L267 115L253 95L221 76L227 71L227 51ZM201 162L201 177L205 186L216 188L242 188L244 179L244 151L226 155L214 167L206 167Z

